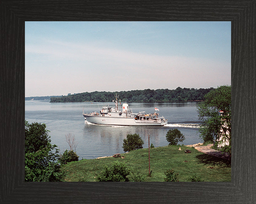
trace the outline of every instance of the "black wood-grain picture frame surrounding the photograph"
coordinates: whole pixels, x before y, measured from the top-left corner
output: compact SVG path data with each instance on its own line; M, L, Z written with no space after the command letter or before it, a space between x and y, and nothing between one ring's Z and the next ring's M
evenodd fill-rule
M256 203L255 11L256 0L2 0L0 203ZM25 21L231 21L231 182L23 182Z

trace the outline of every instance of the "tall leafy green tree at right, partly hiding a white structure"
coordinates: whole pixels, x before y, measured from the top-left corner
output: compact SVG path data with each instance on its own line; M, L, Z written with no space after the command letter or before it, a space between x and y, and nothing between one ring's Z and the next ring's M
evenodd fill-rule
M197 107L200 137L215 142L214 149L231 154L231 86L220 86L204 97Z

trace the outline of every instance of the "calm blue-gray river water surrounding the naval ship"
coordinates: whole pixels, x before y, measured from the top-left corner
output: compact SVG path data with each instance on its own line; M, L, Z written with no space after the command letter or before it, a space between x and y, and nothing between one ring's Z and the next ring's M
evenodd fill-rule
M114 103L109 103L114 107ZM124 153L122 149L123 139L127 134L139 134L144 141L144 148L148 147L148 135L150 144L155 147L166 146L166 133L171 128L177 128L185 135L185 141L180 144L192 145L202 142L199 139L197 117L197 102L172 102L172 103L129 103L134 113L145 111L154 113L158 108L159 117L168 119L165 126L108 126L94 125L85 122L82 115L98 111L106 103L50 103L49 101L25 101L25 119L29 122L45 123L49 130L51 143L58 146L60 153L69 149L65 135L75 135L78 146L76 152L79 159L92 159L102 156L111 156ZM119 106L120 107L120 106Z

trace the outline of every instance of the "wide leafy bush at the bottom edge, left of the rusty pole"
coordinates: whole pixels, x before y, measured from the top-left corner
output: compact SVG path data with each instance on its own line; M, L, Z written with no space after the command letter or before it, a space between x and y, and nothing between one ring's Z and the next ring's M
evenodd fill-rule
M129 181L129 174L126 164L116 162L111 167L105 166L104 170L96 175L96 181Z

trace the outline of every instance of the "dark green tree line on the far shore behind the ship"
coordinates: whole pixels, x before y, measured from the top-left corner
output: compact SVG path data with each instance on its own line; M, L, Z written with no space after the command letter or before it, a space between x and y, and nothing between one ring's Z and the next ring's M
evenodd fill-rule
M116 94L119 95L121 101L126 102L202 101L204 100L204 95L211 90L214 90L214 88L182 89L181 87L177 87L175 90L145 89L119 92L94 91L61 97L51 97L50 102L109 102L114 99Z

